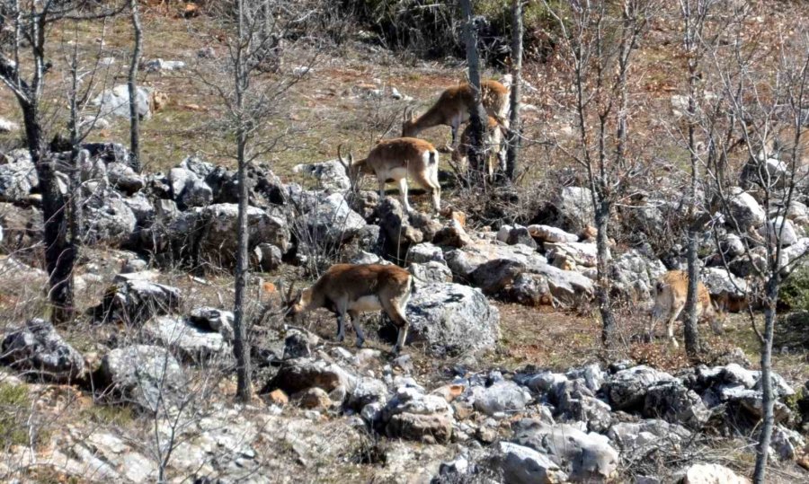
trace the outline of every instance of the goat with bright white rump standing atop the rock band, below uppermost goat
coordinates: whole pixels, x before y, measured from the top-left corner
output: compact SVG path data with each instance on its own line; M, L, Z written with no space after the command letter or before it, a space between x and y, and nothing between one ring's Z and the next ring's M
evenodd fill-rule
M371 148L368 157L354 162L349 154L348 162L342 159L341 146L337 147L337 159L343 164L351 180L360 174L374 174L379 182L379 196L385 196L385 184L396 181L405 210L412 208L407 202L407 176L431 192L432 207L441 209L441 186L438 180L438 151L430 143L414 137L383 139Z

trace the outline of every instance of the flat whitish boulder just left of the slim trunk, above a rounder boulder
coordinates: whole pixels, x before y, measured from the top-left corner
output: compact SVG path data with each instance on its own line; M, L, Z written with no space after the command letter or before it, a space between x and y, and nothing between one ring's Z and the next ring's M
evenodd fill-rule
M186 361L203 363L230 355L230 345L218 331L202 330L182 318L158 316L147 321L143 330Z

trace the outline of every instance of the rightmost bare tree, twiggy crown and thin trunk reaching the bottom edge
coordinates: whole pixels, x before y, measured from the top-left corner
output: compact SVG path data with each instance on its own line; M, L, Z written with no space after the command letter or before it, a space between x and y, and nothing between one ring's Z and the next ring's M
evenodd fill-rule
M733 155L730 136L718 136L713 123L704 125L709 141L708 177L713 184L714 205L725 216L725 226L742 235L743 253L734 260L720 255L725 268L742 267L751 284L736 284L748 303L760 304L760 316L748 309L751 326L760 341L763 418L753 479L765 481L769 443L774 426L774 404L778 395L772 384L772 344L778 309L778 292L790 272L809 253L805 240L787 241L792 221L787 211L804 199L807 178L806 129L803 126L809 81L809 36L805 31L778 34L778 47L762 47L760 34L751 32L744 5L726 6L730 17L723 41L707 48L707 59L716 76L716 91L726 111L725 124L738 126L747 158L740 181L745 191L729 180L726 160ZM717 103L718 104L718 103ZM717 110L718 111L718 110ZM709 119L713 121L713 119ZM716 154L712 154L716 153ZM738 179L737 179L738 180ZM751 194L765 214L763 224L740 215L733 207L749 201ZM759 226L760 225L760 226ZM717 234L717 240L719 236ZM760 328L763 322L763 330Z

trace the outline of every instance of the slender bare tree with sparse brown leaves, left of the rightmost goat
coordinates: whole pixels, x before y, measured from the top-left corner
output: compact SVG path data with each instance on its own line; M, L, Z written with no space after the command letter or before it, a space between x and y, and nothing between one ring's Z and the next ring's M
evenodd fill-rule
M582 167L591 191L598 230L596 298L603 324L601 339L611 348L616 320L609 296L609 219L628 181L640 172L629 152L629 70L653 2L624 0L618 16L608 4L571 2L563 14L555 4L545 2L561 31L560 56L575 91L577 141L573 149L563 150Z

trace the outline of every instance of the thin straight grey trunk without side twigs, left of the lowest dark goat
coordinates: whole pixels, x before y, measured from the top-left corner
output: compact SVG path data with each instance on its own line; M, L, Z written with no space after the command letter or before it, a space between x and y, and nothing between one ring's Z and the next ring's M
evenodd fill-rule
M242 49L244 42L244 0L239 1L239 22L238 34L239 45L236 48L235 60L235 87L236 87L236 107L241 110L244 106L245 74L244 58ZM236 356L236 400L249 401L252 397L253 389L250 374L250 346L247 343L246 319L244 318L244 299L247 292L247 202L249 190L247 189L247 132L244 126L244 119L241 117L237 121L236 128L236 161L238 163L239 181L239 216L236 234L236 297L234 301L234 345L233 351Z

